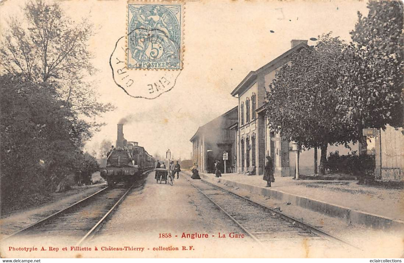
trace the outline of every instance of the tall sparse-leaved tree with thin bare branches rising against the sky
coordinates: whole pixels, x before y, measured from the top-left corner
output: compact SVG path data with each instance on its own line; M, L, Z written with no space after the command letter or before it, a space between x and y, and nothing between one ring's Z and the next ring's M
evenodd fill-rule
M84 80L96 71L88 51L93 25L85 19L75 23L59 4L43 0L28 2L23 11L25 19L11 18L9 30L4 30L2 74L18 74L57 90L58 99L87 117L114 109L109 103L100 103L95 85Z

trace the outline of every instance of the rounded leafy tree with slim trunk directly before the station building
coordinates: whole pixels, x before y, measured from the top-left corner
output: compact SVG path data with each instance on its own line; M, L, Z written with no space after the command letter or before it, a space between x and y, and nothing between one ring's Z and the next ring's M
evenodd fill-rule
M328 144L345 144L357 130L343 122L338 110L339 72L345 44L330 34L320 37L314 48L292 54L281 67L267 93L267 118L272 129L303 148L321 149L320 173L325 173Z

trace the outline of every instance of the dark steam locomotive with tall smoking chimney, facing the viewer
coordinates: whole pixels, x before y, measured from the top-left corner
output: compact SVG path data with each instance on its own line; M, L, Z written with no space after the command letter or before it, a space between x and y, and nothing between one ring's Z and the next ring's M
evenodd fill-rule
M123 124L118 124L116 147L107 156L107 165L101 168L101 177L108 185L125 182L130 183L139 179L141 174L151 170L156 160L147 153L144 147L135 141L126 141L123 134Z

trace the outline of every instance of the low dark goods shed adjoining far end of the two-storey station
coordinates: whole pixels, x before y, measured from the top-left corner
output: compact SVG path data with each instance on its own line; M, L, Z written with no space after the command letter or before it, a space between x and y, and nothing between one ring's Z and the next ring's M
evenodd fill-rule
M202 173L215 171L215 160L220 160L219 169L224 173L223 151L227 152L226 172L235 172L236 146L234 126L238 120L238 107L234 107L221 116L200 126L190 139L192 143L192 161L198 164Z

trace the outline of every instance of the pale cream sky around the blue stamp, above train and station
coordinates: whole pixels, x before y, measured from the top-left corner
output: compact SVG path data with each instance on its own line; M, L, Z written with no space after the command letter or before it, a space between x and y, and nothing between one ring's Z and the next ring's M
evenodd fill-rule
M18 16L23 3L3 1L1 13ZM309 40L332 32L349 42L357 11L367 14L367 1L187 1L183 69L172 90L148 100L124 93L109 67L116 41L126 32L127 1L60 3L75 21L85 17L95 25L89 50L99 72L89 79L97 81L99 100L116 106L95 119L106 125L86 142L85 149L91 152L103 139L115 143L118 121L132 116L124 125L128 141L138 141L149 154L163 156L170 149L174 158L182 159L191 158L189 139L199 126L237 105L230 93L248 72L287 51L292 39ZM4 16L0 21L4 25Z

